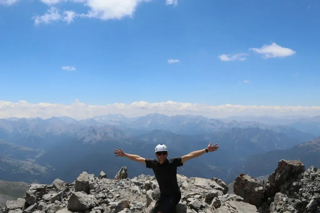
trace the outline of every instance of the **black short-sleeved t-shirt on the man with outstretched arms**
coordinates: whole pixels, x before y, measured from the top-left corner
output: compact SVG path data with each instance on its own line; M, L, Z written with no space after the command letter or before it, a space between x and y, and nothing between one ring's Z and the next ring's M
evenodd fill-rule
M155 173L161 194L181 193L177 181L177 167L182 165L181 157L166 159L162 164L158 159L146 159L146 167Z

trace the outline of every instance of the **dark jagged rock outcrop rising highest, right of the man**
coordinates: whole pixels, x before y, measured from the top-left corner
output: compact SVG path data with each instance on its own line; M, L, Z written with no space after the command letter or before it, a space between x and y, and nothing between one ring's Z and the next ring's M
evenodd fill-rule
M262 213L319 213L320 169L299 160L281 160L268 180L260 181L240 174L234 193L256 206Z

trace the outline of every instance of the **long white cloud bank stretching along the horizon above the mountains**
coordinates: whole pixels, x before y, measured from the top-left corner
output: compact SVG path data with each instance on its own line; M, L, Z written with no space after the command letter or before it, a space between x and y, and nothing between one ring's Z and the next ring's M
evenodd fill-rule
M88 105L74 101L70 105L59 103L28 103L19 101L12 103L0 101L0 118L51 118L52 116L70 116L75 119L91 118L93 116L111 114L124 114L128 117L143 116L148 113L163 113L166 115L203 115L209 118L223 118L229 116L289 116L305 115L317 116L320 114L319 106L243 106L219 105L212 106L199 103L179 103L173 101L148 103L145 101L131 104L114 103L108 105Z

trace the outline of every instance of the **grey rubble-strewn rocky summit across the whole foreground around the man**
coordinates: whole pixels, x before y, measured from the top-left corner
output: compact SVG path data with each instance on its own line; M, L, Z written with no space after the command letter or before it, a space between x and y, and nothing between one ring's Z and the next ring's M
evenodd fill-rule
M320 170L305 171L300 161L281 160L268 180L240 174L233 191L217 178L177 174L182 193L176 213L320 212ZM160 196L154 176L128 178L122 167L115 178L82 172L73 183L55 179L32 183L23 198L7 201L4 213L150 213Z

